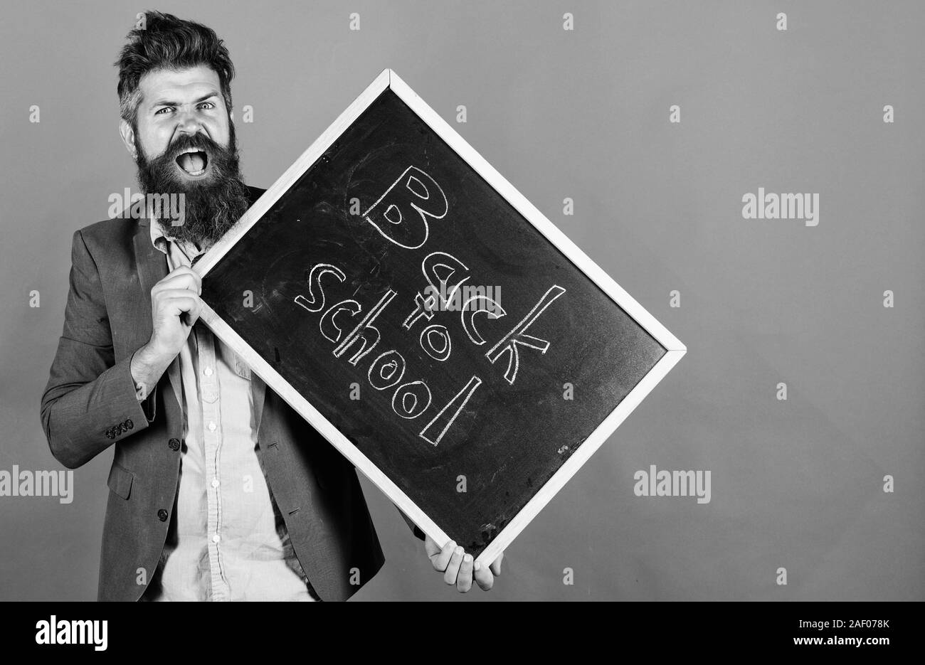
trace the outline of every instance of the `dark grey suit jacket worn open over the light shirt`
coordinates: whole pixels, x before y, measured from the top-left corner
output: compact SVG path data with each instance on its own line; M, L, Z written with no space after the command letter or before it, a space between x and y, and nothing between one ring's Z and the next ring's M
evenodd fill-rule
M253 203L263 190L250 189ZM176 505L179 399L165 372L139 403L129 371L132 353L151 338L151 288L167 274L149 223L117 218L75 231L64 330L42 396L42 425L59 462L77 468L115 447L100 600L142 596ZM258 444L302 569L323 600L347 599L385 561L356 470L270 388Z

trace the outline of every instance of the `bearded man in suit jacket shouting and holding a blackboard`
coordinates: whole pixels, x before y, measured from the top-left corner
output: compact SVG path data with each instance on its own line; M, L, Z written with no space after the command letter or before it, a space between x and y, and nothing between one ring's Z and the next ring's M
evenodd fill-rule
M215 31L147 12L117 60L119 131L144 208L76 231L64 330L42 398L68 468L114 448L100 600L344 600L384 557L356 470L198 321L204 252L263 193L240 176ZM479 567L408 520L448 585Z

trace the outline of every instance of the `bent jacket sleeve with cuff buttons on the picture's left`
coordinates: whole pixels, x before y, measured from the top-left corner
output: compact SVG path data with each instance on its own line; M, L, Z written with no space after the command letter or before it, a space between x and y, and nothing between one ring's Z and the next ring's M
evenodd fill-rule
M155 391L142 403L129 363L115 363L99 271L80 230L71 244L64 330L42 396L42 426L58 462L75 469L154 420Z

